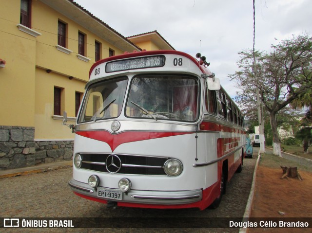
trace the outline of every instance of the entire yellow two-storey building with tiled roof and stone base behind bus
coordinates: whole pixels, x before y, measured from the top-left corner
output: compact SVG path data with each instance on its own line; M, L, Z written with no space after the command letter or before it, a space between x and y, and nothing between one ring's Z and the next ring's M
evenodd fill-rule
M173 49L156 31L126 38L73 0L0 0L0 169L71 159L89 70L99 59Z

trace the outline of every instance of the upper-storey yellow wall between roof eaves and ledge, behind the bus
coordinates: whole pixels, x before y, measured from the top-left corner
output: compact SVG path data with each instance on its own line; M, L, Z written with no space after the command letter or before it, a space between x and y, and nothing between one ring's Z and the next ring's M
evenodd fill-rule
M72 53L65 54L57 50L58 21L67 24L68 38L66 48ZM109 49L115 54L123 54L104 39L94 35L89 30L79 26L75 21L59 14L40 1L33 1L32 28L41 33L37 38L36 66L59 72L74 78L88 81L89 70L95 62L95 40L102 44L102 58L109 56ZM88 62L78 59L78 32L85 34L85 57Z

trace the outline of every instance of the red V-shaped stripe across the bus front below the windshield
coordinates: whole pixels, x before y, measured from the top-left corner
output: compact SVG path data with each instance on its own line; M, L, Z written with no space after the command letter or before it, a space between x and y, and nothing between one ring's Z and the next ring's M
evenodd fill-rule
M122 132L118 134L111 134L108 131L78 131L76 134L95 139L101 142L109 144L112 152L117 148L118 145L123 143L131 143L144 141L156 138L172 137L184 134L190 134L191 132Z

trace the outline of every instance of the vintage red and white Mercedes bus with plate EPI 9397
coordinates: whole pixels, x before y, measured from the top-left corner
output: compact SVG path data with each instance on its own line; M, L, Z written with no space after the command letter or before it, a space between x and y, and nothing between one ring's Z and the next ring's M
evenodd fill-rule
M109 206L218 206L242 170L244 119L197 58L143 51L92 66L73 129L76 195Z

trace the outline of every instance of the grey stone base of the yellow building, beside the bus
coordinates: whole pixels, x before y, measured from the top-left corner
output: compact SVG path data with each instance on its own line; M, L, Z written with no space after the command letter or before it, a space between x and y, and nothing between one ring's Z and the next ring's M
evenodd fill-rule
M0 125L0 170L71 160L74 141L35 142L35 128Z

